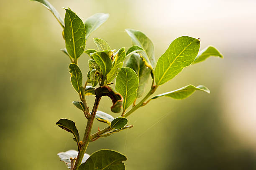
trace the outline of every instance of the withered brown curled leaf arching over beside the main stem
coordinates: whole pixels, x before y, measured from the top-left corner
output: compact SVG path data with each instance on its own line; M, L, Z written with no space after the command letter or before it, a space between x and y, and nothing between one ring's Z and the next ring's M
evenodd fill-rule
M102 86L95 89L95 95L97 97L108 96L112 100L113 105L111 106L111 111L114 113L119 113L122 110L123 97L113 91L109 86Z

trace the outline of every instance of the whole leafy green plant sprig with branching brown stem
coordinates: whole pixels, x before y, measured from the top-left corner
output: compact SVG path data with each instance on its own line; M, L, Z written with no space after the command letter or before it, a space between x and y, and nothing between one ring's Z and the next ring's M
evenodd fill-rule
M127 160L125 155L107 149L88 155L85 153L88 145L99 138L132 128L133 125L128 125L126 117L151 100L162 96L182 100L196 90L210 93L210 90L203 85L187 85L152 97L160 85L178 75L184 67L206 60L210 56L223 58L220 52L212 46L199 52L200 39L188 36L178 37L172 41L157 62L153 43L138 30L125 30L132 40L132 46L128 50L124 47L119 50L110 48L110 45L100 38L93 39L96 50L85 50L87 39L108 19L108 14L97 13L83 22L71 9L64 8L66 14L63 21L48 1L34 1L41 2L47 7L63 28L62 35L66 48L61 51L70 59L71 84L80 98L80 101L72 103L83 112L87 119L84 136L81 139L75 122L68 119L60 119L56 122L60 128L74 135L73 140L77 144L77 151L68 150L58 153L67 168L71 170L125 170L123 163ZM78 65L78 59L82 54L90 58L87 74L82 74ZM113 86L114 80L115 86ZM148 80L151 81L151 88L146 92ZM88 95L95 96L92 108L89 108L86 102ZM113 105L110 108L114 117L97 110L103 96L108 96L112 100ZM92 132L95 119L105 123L106 128Z

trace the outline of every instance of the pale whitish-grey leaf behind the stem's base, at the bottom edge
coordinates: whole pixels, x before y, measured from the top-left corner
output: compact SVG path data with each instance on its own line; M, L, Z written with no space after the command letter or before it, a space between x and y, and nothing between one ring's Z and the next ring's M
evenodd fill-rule
M71 160L70 158L77 158L78 152L76 150L68 150L66 152L61 152L57 154L61 161L63 161L66 165L67 168L71 168ZM84 157L82 159L82 163L85 163L85 161L90 157L87 153L84 153Z

